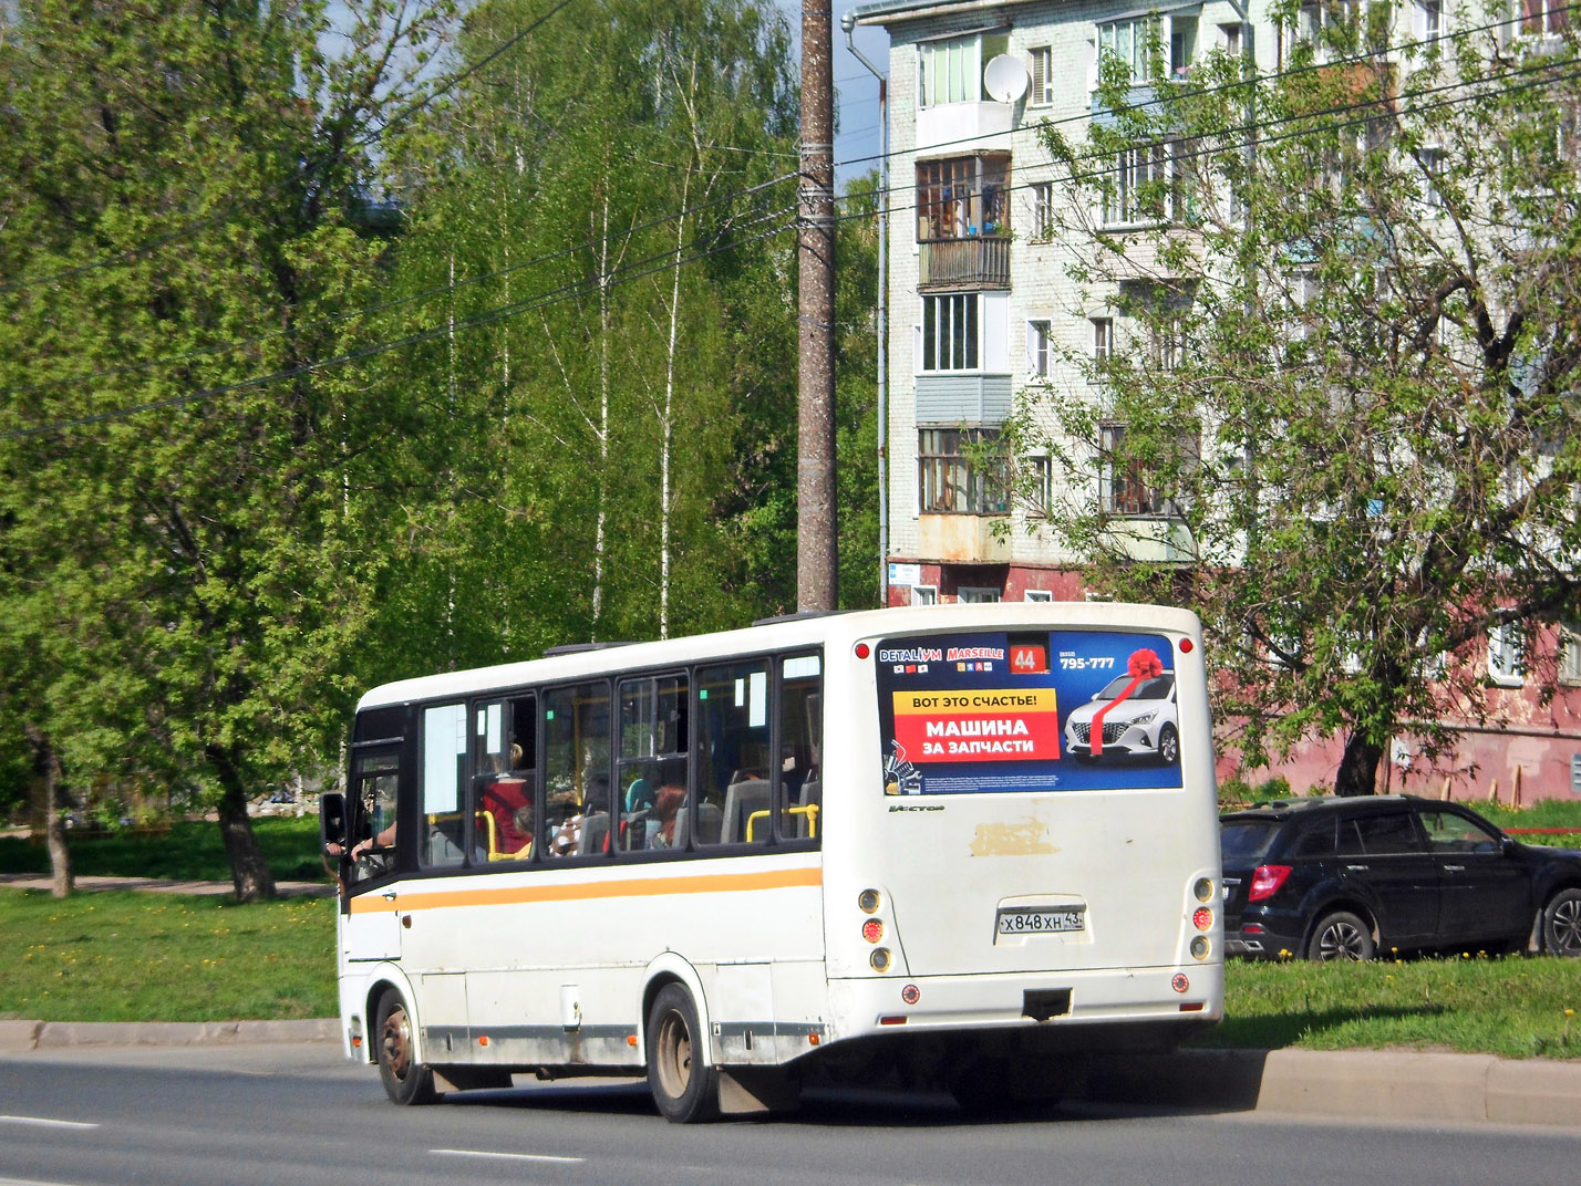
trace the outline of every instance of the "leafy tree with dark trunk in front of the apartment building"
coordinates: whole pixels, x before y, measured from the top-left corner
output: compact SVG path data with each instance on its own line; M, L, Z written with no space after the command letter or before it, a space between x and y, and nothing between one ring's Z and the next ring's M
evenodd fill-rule
M1115 115L1048 144L1121 333L1018 425L1096 580L1202 611L1246 755L1342 737L1342 794L1496 712L1489 632L1551 643L1581 597L1575 32L1390 55L1385 11L1303 39L1285 5L1281 74L1221 54L1153 103L1105 63Z

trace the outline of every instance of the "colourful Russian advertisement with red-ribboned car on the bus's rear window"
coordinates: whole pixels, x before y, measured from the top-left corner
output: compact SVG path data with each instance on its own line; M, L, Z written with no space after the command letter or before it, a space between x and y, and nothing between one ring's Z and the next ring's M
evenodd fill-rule
M1175 649L1107 630L887 640L885 794L1179 786Z

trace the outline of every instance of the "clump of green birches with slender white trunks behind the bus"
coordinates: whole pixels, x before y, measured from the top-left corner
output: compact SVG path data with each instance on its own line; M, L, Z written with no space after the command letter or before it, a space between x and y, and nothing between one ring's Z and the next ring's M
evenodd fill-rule
M743 343L778 332L765 308L784 322L759 303L792 250L784 21L610 0L519 39L534 11L471 13L474 73L395 155L408 303L386 332L441 330L394 360L441 409L433 513L381 627L397 670L751 613L729 543L735 472L778 431Z

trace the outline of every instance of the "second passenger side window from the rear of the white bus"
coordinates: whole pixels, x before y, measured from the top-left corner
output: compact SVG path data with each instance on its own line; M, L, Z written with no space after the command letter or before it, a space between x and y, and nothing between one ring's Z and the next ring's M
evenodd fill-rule
M768 660L699 668L694 725L696 843L768 843Z

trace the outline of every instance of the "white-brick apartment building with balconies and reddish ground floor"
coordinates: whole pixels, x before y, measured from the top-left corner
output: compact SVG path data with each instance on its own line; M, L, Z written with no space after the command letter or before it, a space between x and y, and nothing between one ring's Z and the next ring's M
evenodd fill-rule
M1036 453L994 461L990 449L1026 409L1029 390L1080 395L1086 379L1069 360L1102 358L1127 332L1113 291L1069 275L1053 226L1067 196L1040 128L1078 139L1088 122L1105 118L1096 96L1100 55L1129 66L1138 93L1149 47L1167 55L1170 77L1189 79L1214 49L1270 73L1284 65L1292 38L1361 11L1353 0L1306 3L1285 30L1266 0L879 0L852 11L855 25L882 27L890 38L890 605L1086 592L1077 557L1040 516L1056 505L1055 491L1010 497L993 469L1015 466L1017 490L1036 491L1056 480L1051 466ZM1388 21L1402 36L1428 41L1443 33L1445 11L1443 0L1407 0ZM1562 5L1516 0L1510 30L1553 35L1567 19ZM1123 156L1094 221L1141 220L1134 196L1170 166L1167 150ZM1102 431L1118 441L1126 428ZM1086 496L1151 542L1151 559L1168 556L1167 496L1143 472L1097 464ZM1557 652L1549 662L1559 665L1559 695L1540 703L1510 636L1492 632L1481 662L1500 723L1467 723L1459 753L1437 764L1413 761L1402 739L1385 771L1394 790L1437 794L1450 779L1455 793L1486 793L1499 780L1510 798L1519 779L1527 799L1581 796L1581 647L1562 630L1538 633ZM1336 764L1334 745L1314 745L1279 772L1300 791L1330 783Z

